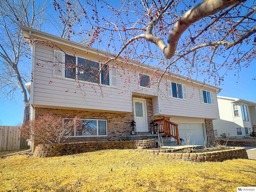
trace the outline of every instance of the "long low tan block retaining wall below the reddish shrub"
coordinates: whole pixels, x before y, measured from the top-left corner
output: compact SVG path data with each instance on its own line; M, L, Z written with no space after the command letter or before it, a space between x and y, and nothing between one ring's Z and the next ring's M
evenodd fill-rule
M136 140L136 141L102 141L102 142L79 142L62 144L38 144L34 151L34 157L54 157L70 155L92 150L102 149L137 149L156 147L155 140Z

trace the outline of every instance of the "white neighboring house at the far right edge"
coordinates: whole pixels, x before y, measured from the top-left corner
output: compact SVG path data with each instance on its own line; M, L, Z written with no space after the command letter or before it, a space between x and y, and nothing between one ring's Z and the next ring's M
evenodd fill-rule
M213 120L215 137L244 138L256 130L256 103L218 96L220 119Z

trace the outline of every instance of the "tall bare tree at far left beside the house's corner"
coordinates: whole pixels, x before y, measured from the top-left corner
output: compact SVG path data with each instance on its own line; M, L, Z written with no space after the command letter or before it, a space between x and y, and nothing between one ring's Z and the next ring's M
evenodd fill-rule
M4 0L0 2L0 94L13 99L21 90L24 103L23 121L29 120L29 99L25 82L29 79L26 55L29 46L22 38L20 25L40 28L46 6L36 6L35 0Z

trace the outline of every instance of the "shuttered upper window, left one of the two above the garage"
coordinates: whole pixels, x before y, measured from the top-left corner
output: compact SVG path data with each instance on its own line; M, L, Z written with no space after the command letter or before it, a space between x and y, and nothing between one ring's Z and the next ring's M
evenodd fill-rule
M179 99L187 99L186 86L167 81L168 96Z

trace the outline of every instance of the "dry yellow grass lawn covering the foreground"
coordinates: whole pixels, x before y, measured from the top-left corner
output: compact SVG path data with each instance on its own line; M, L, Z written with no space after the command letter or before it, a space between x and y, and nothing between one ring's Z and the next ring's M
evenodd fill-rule
M256 186L256 161L194 163L137 150L0 158L0 191L236 191Z

